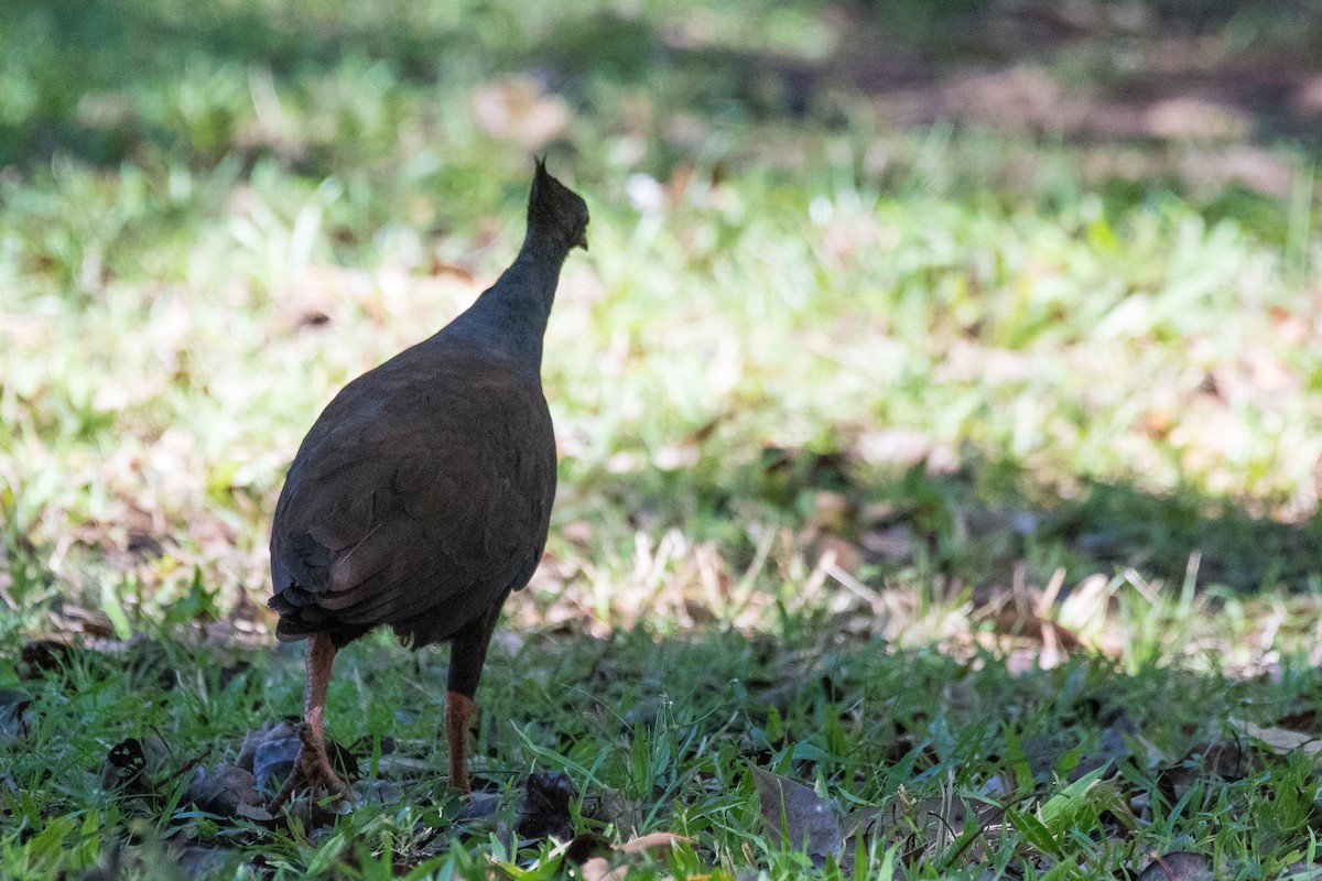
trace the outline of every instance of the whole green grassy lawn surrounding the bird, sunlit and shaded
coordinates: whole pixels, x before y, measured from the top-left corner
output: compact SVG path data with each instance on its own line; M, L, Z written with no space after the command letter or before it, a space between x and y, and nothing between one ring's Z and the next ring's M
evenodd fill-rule
M1306 8L1194 7L1047 44L981 4L0 11L0 874L557 877L582 853L512 847L531 770L580 832L689 839L629 877L1310 864L1315 116L951 98L1144 94L1181 41L1199 94L1318 75ZM509 262L541 149L594 219L547 335L549 555L480 693L500 806L456 822L444 652L385 637L329 708L379 799L192 806L193 762L299 705L259 609L286 464ZM103 779L130 738L149 791ZM891 819L813 860L751 763Z

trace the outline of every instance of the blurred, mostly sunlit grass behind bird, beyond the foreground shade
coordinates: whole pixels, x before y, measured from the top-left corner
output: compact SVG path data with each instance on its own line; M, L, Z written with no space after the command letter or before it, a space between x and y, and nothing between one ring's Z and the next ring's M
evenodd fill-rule
M1286 0L4 4L8 623L260 605L303 432L539 152L594 217L547 602L1319 590L1319 59Z

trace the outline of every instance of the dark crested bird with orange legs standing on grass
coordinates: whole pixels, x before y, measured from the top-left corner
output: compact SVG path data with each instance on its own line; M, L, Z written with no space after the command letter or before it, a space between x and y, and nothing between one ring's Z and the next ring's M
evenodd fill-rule
M299 781L352 803L327 756L336 652L378 626L449 643L451 786L471 793L468 722L506 597L527 585L555 499L542 346L561 268L587 250L587 203L534 162L514 262L459 317L348 383L286 474L271 526L279 641L308 641Z

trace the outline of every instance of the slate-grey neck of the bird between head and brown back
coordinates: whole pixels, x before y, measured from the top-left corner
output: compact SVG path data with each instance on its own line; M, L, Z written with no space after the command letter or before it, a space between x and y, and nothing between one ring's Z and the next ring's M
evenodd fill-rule
M435 338L477 345L539 379L542 337L564 258L563 247L529 231L496 284Z

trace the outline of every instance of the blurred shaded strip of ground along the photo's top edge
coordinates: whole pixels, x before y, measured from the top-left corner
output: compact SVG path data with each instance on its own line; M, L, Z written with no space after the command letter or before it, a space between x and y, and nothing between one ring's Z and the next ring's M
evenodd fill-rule
M175 149L175 129L197 120L171 116L210 100L172 91L190 77L255 66L300 88L356 61L385 63L419 91L529 71L587 107L599 85L645 87L674 102L664 112L715 123L847 127L846 108L862 100L887 127L953 120L1095 144L1289 136L1322 149L1322 13L1302 1L876 0L767 15L750 0L652 16L530 16L513 3L390 9L354 0L8 4L0 164L70 153L112 165L144 147ZM161 114L163 95L178 107ZM237 96L226 112L250 112L239 110L249 100ZM245 149L237 132L221 136L182 159L214 162ZM1274 190L1273 173L1243 176Z

